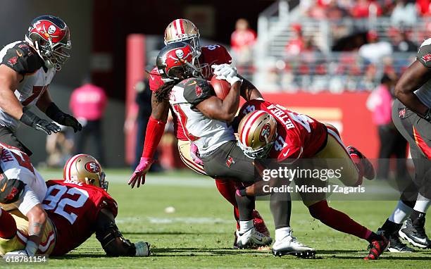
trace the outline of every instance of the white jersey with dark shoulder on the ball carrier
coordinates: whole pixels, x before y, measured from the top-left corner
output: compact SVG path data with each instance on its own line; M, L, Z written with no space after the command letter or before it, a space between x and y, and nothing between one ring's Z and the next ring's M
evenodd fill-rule
M177 115L185 137L196 144L201 155L235 140L230 125L222 120L207 118L196 108L197 104L211 96L215 96L215 93L209 82L192 77L175 85L169 97L170 106Z

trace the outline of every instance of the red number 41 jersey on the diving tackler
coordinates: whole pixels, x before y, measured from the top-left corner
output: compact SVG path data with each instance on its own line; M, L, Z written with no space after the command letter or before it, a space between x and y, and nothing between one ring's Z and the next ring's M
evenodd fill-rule
M287 158L311 158L326 141L327 129L323 123L268 101L247 101L239 110L239 120L255 110L266 111L277 120L277 138L268 158L279 162Z

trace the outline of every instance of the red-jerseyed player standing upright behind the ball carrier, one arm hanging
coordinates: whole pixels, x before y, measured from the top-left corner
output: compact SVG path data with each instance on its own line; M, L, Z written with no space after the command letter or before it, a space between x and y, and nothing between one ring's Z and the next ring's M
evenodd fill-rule
M199 70L196 70L196 72L199 72L199 75L203 76L206 80L211 80L211 77L213 77L211 65L220 65L216 69L220 71L220 74L223 72L230 72L229 67L225 68L225 65L222 65L232 63L232 58L225 47L219 44L202 47L199 41L199 30L196 25L194 25L189 20L177 19L169 23L168 27L165 29L164 42L165 44L186 42L192 46L192 48L197 53L195 65L198 66ZM225 69L223 70L223 68ZM163 79L161 75L163 74L159 74L157 66L151 70L149 85L151 91L153 92L151 101L152 113L148 126L146 127L146 136L141 161L129 181L129 184L132 184L132 187L135 186L135 184L137 184L137 187L139 187L139 184L144 184L145 174L149 170L151 164L154 162L154 153L165 130L165 123L168 118L169 108L173 110L173 107L169 105L168 99L156 98L158 89L161 89L165 82L170 81L170 79L167 78ZM241 95L244 97L244 99L249 100L262 97L256 87L251 84L251 82L245 80L244 78L242 78L242 80ZM184 123L181 123L182 119L178 117L176 113L172 113L172 115L174 118L173 121L175 135L178 139L178 149L180 151L180 157L182 161L185 163L185 165L187 165L187 167L194 170L196 173L207 175L203 165L199 163L199 161L194 161L194 158L191 154L191 141L188 139L188 134L184 130ZM235 200L235 184L229 180L223 180L221 178L215 179L215 184L220 194L222 194L223 197L225 197L225 199L227 199L227 201L229 201L234 206L234 216L238 221L239 215L237 202ZM269 235L269 231L259 213L254 211L253 214L256 228L260 232Z

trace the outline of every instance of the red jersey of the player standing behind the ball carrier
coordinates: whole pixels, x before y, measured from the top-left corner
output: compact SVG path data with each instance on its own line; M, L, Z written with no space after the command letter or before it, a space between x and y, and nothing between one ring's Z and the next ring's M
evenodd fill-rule
M230 64L232 63L232 57L230 56L229 52L227 52L227 49L224 46L214 44L202 47L201 56L199 57L199 63L206 66L206 68L203 68L203 73L206 80L211 80L211 77L213 77L213 69L211 68L211 65L220 65L222 63ZM151 70L149 85L151 91L153 92L160 88L161 85L163 85L161 76L158 75L157 67ZM171 114L173 115L174 132L177 139L187 141L188 139L184 134L184 130L182 130L182 125L179 122L177 115L173 111L171 112Z

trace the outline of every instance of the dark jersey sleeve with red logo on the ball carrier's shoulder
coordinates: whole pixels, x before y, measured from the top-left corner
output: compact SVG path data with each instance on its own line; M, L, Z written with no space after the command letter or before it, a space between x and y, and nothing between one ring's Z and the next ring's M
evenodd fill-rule
M192 104L192 108L211 96L215 96L215 93L206 80L194 78L184 83L184 98Z

